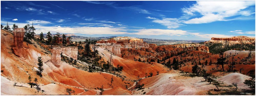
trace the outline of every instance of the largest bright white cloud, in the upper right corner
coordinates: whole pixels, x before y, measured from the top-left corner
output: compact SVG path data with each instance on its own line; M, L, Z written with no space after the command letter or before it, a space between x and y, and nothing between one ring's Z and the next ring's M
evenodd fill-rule
M193 18L185 21L185 24L201 24L214 21L227 21L227 17L235 15L251 15L243 9L255 5L254 1L197 1L189 8L183 8L186 15L196 15L199 13L202 17Z

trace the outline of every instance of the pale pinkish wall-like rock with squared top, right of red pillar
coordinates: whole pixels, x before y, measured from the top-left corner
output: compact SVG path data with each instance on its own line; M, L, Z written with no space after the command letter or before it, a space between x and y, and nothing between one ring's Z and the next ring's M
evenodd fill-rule
M61 53L66 54L67 56L77 60L78 48L75 46L53 46L51 50L51 62L55 66L59 67L61 62Z

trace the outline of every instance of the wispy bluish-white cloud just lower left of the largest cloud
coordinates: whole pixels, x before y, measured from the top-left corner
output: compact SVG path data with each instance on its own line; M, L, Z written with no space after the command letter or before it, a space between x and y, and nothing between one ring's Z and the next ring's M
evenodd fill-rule
M163 18L162 20L156 19L156 18L152 18L152 17L146 17L146 18L147 19L153 19L152 22L161 24L163 26L166 26L169 29L178 28L178 27L183 25L183 24L181 24L182 20L177 19L177 18Z

